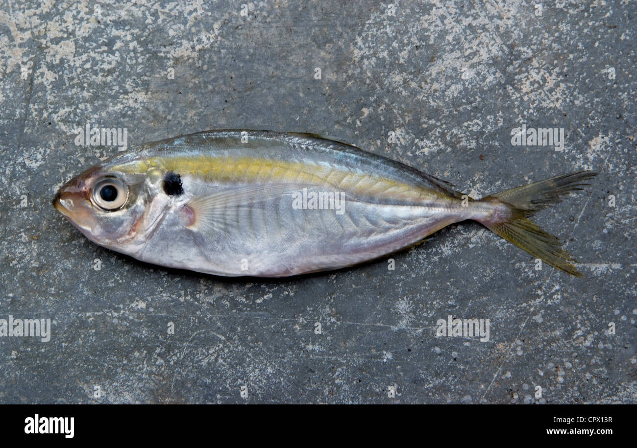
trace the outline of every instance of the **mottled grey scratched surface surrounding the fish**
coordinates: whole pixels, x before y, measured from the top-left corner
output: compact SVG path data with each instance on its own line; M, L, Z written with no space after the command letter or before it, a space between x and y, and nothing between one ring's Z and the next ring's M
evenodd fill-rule
M637 5L423 3L3 1L0 319L51 319L52 334L0 338L0 402L637 402ZM586 277L536 271L477 223L395 270L263 281L145 265L51 207L117 153L76 146L87 122L126 128L129 146L316 132L476 196L598 169L536 218ZM522 123L564 129L564 150L512 145ZM489 319L489 342L436 338L448 315Z

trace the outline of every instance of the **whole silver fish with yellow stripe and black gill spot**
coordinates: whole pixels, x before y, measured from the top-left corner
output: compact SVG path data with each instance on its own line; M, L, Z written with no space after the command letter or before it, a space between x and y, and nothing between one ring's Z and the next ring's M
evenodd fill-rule
M529 218L596 174L572 172L475 199L338 140L211 130L108 158L62 185L53 206L104 248L217 276L341 269L473 220L581 277L559 239Z

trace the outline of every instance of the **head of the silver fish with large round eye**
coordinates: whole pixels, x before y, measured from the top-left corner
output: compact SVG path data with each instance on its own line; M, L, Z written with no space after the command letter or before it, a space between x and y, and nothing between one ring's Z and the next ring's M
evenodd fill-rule
M145 172L96 165L57 191L53 206L90 241L124 253L143 243L143 221L152 200Z

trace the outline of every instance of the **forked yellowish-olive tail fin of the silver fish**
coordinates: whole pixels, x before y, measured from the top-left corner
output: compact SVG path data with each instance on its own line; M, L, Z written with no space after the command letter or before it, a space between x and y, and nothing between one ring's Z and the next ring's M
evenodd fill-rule
M589 185L584 182L597 174L594 171L573 172L484 197L480 202L492 203L493 212L477 221L543 262L572 276L583 277L572 264L576 262L575 258L561 248L559 239L538 227L529 216L559 202L562 195L582 190L583 186Z

